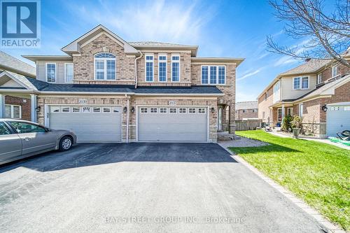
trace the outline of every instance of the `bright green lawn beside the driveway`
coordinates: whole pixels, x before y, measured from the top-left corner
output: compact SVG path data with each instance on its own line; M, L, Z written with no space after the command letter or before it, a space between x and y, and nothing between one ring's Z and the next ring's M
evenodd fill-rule
M350 230L350 150L316 141L281 138L262 130L236 133L270 145L230 150L333 223Z

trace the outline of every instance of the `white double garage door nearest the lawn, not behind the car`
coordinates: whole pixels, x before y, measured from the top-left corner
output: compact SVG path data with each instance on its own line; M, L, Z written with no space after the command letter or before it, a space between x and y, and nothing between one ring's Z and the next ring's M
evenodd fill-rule
M139 141L207 141L207 107L139 107Z

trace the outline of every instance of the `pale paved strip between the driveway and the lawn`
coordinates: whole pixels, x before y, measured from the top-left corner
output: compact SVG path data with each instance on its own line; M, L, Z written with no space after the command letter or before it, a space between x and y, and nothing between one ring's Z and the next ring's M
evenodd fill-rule
M334 225L333 223L330 223L329 220L325 219L321 213L316 211L316 209L312 208L308 204L306 204L302 199L296 197L293 192L290 192L283 186L279 185L278 183L274 182L271 178L267 177L265 174L263 174L261 171L259 171L257 168L253 167L251 164L246 162L242 157L239 155L235 155L235 153L232 153L231 150L229 150L226 146L222 145L221 143L218 143L219 146L224 148L228 153L230 153L231 157L235 159L237 162L240 162L243 164L246 168L251 170L255 175L262 178L263 181L268 183L270 186L272 186L275 190L279 191L281 195L286 197L290 200L290 202L293 202L296 206L298 206L300 209L302 209L304 212L306 212L309 216L314 218L319 224L323 225L328 232L332 233L346 233L342 228L338 227L337 225Z

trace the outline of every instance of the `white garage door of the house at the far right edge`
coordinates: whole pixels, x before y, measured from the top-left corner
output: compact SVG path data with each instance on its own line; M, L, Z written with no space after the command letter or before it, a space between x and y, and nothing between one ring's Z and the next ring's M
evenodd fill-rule
M327 136L337 136L337 132L350 129L350 103L327 107Z

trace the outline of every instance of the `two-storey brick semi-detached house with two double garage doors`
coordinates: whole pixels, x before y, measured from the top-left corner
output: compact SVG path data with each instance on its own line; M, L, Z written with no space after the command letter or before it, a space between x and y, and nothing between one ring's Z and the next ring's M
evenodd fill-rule
M31 95L38 123L71 129L78 141L216 142L235 133L234 57L197 57L197 45L127 42L99 25L62 48L25 55L36 79L0 87Z

